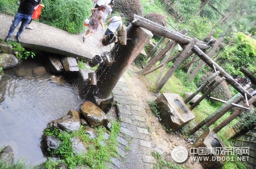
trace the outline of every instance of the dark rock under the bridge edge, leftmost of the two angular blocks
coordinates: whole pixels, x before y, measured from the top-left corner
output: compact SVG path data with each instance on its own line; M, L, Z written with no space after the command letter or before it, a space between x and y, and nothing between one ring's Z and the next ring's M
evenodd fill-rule
M64 70L61 59L56 56L49 56L46 65L52 73L61 73Z

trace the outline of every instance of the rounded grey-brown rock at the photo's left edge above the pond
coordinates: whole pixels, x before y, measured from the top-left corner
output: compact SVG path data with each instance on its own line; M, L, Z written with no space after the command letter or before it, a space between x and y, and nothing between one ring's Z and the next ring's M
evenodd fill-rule
M3 69L14 68L19 64L19 59L13 54L0 54L0 67Z

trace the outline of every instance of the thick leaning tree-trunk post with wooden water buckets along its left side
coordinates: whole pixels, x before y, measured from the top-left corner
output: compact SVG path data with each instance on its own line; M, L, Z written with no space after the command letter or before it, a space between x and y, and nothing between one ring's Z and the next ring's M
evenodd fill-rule
M127 27L127 38L132 40L128 40L127 45L115 44L110 52L114 58L113 64L108 67L102 63L99 66L96 70L98 75L97 85L89 88L86 94L87 98L89 100L93 96L97 96L99 99L108 98L122 74L125 73L125 70L152 37L153 34L147 29L129 25Z

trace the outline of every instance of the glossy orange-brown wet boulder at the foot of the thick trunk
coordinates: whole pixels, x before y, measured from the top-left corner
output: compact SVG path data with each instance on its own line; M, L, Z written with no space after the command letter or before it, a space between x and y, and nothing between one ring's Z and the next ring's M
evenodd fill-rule
M84 102L81 113L91 127L106 126L110 123L105 113L90 101Z

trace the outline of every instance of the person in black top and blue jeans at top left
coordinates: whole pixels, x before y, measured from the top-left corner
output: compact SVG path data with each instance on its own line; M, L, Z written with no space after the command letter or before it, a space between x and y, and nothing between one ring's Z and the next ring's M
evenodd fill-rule
M19 23L21 22L20 28L17 32L16 39L20 42L20 35L23 30L26 28L26 25L31 20L32 14L34 12L34 8L36 5L39 5L41 0L19 0L20 6L18 8L17 13L15 14L12 25L9 29L8 35L6 37L6 42L8 42Z

